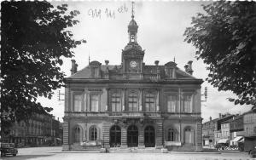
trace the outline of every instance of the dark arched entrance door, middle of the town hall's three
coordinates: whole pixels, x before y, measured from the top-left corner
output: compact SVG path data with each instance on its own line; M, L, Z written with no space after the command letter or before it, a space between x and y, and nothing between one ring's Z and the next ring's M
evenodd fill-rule
M131 125L127 129L127 146L137 146L138 144L138 129L135 125Z

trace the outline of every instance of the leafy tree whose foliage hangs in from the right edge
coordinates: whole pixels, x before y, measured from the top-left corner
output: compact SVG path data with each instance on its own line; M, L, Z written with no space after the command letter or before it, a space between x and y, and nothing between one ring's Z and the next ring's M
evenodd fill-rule
M256 3L214 2L192 17L185 42L196 48L209 70L207 81L238 95L237 104L256 107Z

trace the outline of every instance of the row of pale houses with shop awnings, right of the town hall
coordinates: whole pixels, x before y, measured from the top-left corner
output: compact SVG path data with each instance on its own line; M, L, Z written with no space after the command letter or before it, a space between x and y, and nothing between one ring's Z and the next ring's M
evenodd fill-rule
M212 136L214 132L214 136ZM241 115L219 115L203 123L203 146L212 148L217 143L239 146L241 151L250 151L256 145L256 113L247 111Z

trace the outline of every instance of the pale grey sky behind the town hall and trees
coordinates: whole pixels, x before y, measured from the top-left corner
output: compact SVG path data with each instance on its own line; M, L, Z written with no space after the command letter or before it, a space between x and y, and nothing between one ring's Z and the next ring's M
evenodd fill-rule
M76 17L79 24L68 28L73 31L76 40L85 39L87 43L73 49L74 60L78 63L78 70L83 69L90 61L97 60L109 65L121 63L121 51L128 43L127 26L131 20L131 1L67 1L51 2L54 6L67 3L68 9L79 10ZM177 67L183 69L189 60L193 60L193 76L205 81L207 78L206 65L202 60L195 59L195 47L185 43L183 33L191 26L191 18L196 13L204 13L201 4L209 2L150 2L136 1L134 5L135 20L137 21L137 42L145 49L144 62L154 65L154 60L160 60L160 65L172 61L175 57ZM61 71L70 76L71 59L64 59ZM218 113L243 113L251 106L235 106L227 98L235 97L231 92L218 92L209 83L201 85L202 92L207 87L207 101L201 103L201 117L207 122L209 117L216 118ZM64 89L55 91L51 100L39 98L43 106L53 107L53 114L62 122L64 117L64 101L58 100L57 93L64 93ZM61 95L61 99L64 96ZM204 97L202 96L202 100Z

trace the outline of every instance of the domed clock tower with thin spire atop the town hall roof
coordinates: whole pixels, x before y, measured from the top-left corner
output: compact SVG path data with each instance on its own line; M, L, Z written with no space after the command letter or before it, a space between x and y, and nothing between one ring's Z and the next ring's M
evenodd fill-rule
M122 50L123 75L127 79L143 77L144 50L137 43L137 22L134 20L134 10L131 9L131 21L128 26L129 43Z

